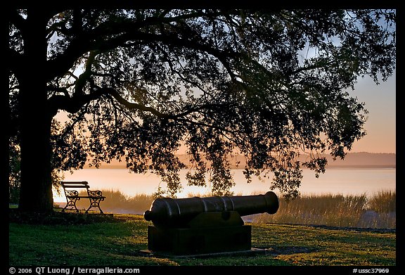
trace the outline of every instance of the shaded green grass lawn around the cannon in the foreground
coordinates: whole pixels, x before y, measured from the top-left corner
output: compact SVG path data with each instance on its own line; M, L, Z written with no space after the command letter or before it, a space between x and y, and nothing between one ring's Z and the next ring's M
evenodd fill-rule
M142 215L58 213L23 217L10 211L9 266L396 266L396 231L326 226L252 225L252 247L265 253L162 257L148 247Z

